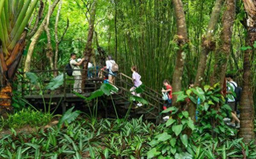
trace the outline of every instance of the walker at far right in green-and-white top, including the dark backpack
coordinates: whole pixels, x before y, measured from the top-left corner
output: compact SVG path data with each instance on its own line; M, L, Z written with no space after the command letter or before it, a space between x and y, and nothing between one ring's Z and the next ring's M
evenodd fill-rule
M233 81L233 75L232 74L227 74L226 79L227 79L227 93L231 94L232 98L228 98L227 104L230 106L232 109L231 115L232 115L232 121L228 122L227 125L235 127L237 122L236 128L240 128L240 120L236 116L236 111L237 111L237 104L240 101L241 97L241 88L237 86L237 83ZM233 96L233 93L236 94L236 97Z

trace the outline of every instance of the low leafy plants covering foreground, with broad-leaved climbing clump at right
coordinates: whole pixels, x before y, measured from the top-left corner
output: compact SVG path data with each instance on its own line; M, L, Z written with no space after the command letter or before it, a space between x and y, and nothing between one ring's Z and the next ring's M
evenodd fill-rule
M244 144L236 137L235 129L222 121L223 112L230 110L220 94L219 85L192 88L178 100L200 97L198 121L194 125L186 111L175 107L166 123L155 125L140 119L85 119L81 112L68 110L58 125L38 129L34 133L16 133L0 139L3 158L160 158L160 159L215 159L255 158L254 141ZM193 92L193 93L192 93ZM95 93L94 93L95 95ZM93 97L92 97L93 98ZM197 100L195 100L196 102ZM175 117L176 116L176 117ZM78 118L77 118L78 117ZM87 116L88 117L88 116Z

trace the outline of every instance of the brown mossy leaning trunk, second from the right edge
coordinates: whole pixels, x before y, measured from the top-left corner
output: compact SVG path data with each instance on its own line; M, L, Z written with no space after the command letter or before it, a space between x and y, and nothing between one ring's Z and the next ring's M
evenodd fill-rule
M220 82L221 87L227 70L227 61L231 52L231 38L236 16L236 0L227 0L227 9L222 17L222 31L219 47L215 51L215 65L211 84Z

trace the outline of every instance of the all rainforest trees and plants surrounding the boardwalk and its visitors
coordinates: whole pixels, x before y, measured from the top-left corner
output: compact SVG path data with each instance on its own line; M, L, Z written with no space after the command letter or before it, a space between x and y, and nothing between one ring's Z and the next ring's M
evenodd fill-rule
M256 158L255 50L256 0L0 0L0 158ZM75 93L89 114L59 115L52 98L40 108L29 103L23 89L44 100L66 88L71 53L85 70L89 62L104 67L108 55L123 75L136 65L140 93L161 93L169 80L172 107L157 111L171 111L170 119L129 117L131 105L120 119L112 97L119 90L110 84L90 97ZM31 73L46 70L54 71ZM88 74L81 71L81 85ZM241 87L239 129L223 121L231 116L226 98L236 96L226 74ZM154 99L129 100L151 108ZM98 101L112 105L116 119L100 119Z

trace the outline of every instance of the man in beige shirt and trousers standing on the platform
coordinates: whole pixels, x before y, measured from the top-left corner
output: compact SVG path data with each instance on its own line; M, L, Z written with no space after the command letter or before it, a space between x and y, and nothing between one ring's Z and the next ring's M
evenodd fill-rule
M80 71L80 65L84 62L84 58L80 60L80 62L76 62L76 54L71 53L70 54L70 65L71 68L73 68L73 74L75 83L73 87L73 91L77 93L82 93L81 85L82 85L82 77L81 77L81 71Z

